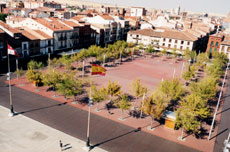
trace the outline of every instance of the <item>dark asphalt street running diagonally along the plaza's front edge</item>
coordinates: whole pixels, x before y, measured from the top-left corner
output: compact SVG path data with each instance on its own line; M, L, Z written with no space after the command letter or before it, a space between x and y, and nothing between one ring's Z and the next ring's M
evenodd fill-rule
M0 77L0 104L9 108L8 85ZM29 118L86 141L87 112L47 99L40 95L12 87L14 109ZM189 147L150 135L141 129L91 115L91 146L99 146L111 152L193 152ZM17 117L17 116L15 116Z

